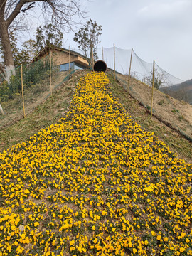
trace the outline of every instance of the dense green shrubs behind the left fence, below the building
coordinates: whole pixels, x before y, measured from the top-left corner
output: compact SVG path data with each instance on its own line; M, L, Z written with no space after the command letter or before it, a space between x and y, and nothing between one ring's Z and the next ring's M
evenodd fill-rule
M43 63L39 60L32 63L30 67L23 67L23 87L24 89L35 85L42 79L48 77L49 61ZM12 75L10 82L4 81L0 85L0 101L5 102L14 98L21 92L21 68L16 69L16 75Z

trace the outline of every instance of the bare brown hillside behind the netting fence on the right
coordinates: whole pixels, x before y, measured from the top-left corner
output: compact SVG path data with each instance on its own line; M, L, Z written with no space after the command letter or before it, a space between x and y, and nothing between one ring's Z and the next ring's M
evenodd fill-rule
M127 89L128 78L117 75ZM151 87L134 78L130 80L130 95L151 112ZM162 123L175 129L192 141L192 106L154 88L153 114Z

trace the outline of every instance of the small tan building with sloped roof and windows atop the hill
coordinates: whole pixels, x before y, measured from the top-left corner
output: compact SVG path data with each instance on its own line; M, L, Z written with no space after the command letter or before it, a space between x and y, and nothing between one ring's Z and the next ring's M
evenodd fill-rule
M37 60L46 60L48 56L50 57L50 53L53 65L58 66L60 71L66 71L69 70L69 68L90 68L90 65L87 62L85 56L73 50L68 50L53 45L44 47L43 50L41 50L28 65L31 65L31 63L34 63Z

